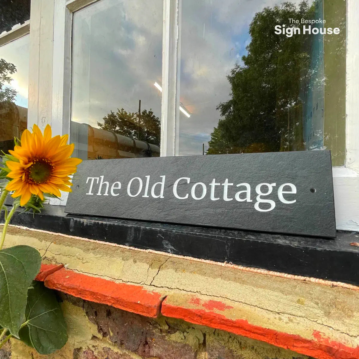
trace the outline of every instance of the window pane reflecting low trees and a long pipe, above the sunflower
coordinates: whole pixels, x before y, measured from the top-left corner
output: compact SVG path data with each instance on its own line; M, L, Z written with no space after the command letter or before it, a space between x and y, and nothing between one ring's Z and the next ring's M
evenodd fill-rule
M74 13L75 157L159 156L162 23L162 0L101 0Z

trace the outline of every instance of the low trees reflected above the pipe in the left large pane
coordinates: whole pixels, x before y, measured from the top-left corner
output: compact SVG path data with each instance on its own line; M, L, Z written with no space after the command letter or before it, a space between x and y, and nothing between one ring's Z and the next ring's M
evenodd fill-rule
M104 122L97 122L102 129L116 134L146 141L151 144L160 144L161 123L153 114L152 109L141 112L140 120L138 112L126 112L123 108L117 112L111 111L105 117Z

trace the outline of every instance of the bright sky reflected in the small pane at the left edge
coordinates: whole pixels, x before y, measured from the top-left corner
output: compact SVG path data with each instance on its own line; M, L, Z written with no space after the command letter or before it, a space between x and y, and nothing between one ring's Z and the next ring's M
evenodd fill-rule
M11 83L5 86L17 91L15 104L26 108L29 87L29 45L30 37L25 35L0 47L0 59L11 62L17 69L17 72L11 75L13 79Z

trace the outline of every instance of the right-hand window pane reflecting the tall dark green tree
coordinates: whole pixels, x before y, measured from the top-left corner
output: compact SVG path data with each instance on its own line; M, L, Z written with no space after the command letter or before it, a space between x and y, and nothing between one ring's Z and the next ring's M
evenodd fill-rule
M344 164L346 1L180 4L178 155L330 149Z

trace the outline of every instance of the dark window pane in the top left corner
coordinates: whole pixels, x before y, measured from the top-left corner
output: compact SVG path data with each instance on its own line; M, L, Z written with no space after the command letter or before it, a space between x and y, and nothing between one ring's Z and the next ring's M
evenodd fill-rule
M0 1L0 34L30 19L30 3L31 0Z

